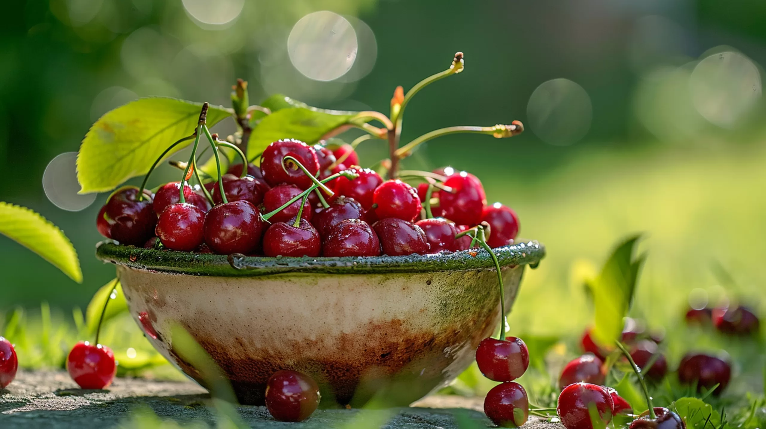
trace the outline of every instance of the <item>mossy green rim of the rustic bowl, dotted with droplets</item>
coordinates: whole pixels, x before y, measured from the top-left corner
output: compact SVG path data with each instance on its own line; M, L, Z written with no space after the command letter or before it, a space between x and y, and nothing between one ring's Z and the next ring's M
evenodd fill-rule
M501 266L530 265L536 268L545 257L545 246L524 240L494 249ZM143 249L119 245L111 240L96 245L96 257L103 262L129 268L185 275L258 277L283 273L379 274L433 271L466 271L493 268L492 257L484 249L445 252L435 255L270 258L265 256L213 255Z

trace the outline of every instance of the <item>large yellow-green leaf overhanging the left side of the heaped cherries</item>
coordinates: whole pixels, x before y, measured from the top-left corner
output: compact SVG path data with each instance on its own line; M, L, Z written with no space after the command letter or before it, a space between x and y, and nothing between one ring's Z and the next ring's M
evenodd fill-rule
M162 151L195 131L201 106L151 97L106 112L90 127L80 145L77 155L80 193L113 190L131 177L146 174ZM230 110L210 106L208 127L228 116ZM176 148L180 150L189 143Z

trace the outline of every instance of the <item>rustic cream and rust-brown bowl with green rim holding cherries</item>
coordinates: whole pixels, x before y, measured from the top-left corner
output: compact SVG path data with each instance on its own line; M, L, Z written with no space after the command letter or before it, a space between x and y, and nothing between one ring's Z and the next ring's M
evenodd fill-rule
M192 379L174 352L180 323L231 380L260 404L278 369L312 375L322 403L408 405L473 362L499 326L496 270L482 249L444 255L260 258L139 249L102 242L117 265L130 313L159 353ZM538 242L496 249L506 308Z

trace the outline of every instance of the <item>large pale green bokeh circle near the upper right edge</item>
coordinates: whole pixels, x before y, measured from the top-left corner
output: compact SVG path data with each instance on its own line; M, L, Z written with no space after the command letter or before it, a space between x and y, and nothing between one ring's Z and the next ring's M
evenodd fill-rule
M721 52L694 67L689 87L700 115L719 127L733 128L761 98L761 73L745 55Z

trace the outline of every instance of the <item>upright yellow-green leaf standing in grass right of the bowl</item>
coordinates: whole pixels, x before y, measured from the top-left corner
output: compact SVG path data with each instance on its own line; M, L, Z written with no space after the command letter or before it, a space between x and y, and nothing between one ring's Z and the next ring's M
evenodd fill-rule
M601 274L588 282L596 314L593 338L601 346L611 348L614 341L620 339L623 319L633 300L638 271L646 259L646 255L634 255L639 238L633 236L617 245Z

